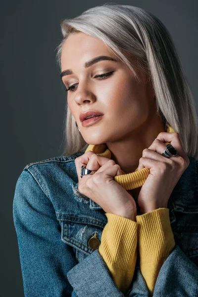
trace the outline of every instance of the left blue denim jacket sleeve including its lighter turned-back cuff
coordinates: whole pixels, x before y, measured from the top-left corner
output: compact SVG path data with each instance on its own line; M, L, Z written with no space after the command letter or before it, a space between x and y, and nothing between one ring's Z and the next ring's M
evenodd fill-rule
M124 296L98 250L78 264L73 247L61 241L47 187L33 169L24 169L17 180L13 221L25 297Z

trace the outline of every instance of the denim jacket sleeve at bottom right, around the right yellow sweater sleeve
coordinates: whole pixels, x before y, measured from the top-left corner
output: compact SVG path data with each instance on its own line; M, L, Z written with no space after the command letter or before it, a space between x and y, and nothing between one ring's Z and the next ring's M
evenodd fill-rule
M198 296L198 267L177 245L159 270L152 297L159 296ZM126 297L150 297L140 267L135 269L133 282Z

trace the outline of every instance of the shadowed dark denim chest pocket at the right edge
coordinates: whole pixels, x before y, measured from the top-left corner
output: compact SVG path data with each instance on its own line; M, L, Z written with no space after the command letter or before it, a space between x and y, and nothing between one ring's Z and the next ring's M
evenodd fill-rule
M174 211L171 223L175 243L198 266L198 212Z

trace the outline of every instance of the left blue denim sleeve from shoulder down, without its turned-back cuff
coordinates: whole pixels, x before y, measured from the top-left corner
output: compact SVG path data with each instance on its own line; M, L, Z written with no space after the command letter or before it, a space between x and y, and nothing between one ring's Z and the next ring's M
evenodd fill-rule
M67 272L77 264L72 247L61 241L60 224L45 187L32 174L20 174L13 199L25 297L68 297L72 287ZM75 296L75 295L73 295Z

